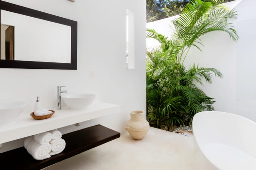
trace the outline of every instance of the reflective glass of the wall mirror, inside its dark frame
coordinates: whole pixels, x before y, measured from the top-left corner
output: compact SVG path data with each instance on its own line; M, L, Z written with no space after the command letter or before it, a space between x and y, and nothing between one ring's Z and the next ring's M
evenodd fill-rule
M1 10L1 60L71 63L71 27Z

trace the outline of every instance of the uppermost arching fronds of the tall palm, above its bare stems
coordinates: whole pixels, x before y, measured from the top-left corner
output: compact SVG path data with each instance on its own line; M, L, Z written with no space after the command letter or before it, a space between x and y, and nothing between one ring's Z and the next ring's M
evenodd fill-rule
M238 40L233 25L228 23L228 19L236 18L236 11L228 10L221 3L222 0L191 0L185 6L183 13L173 23L176 34L183 39L186 46L196 46L200 50L196 45L197 39L212 31L228 33L233 41Z

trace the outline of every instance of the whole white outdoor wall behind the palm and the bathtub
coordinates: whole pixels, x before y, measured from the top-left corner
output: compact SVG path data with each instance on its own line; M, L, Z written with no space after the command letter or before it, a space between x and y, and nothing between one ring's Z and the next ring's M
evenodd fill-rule
M224 75L223 79L214 78L212 84L204 83L202 89L210 97L215 98L216 111L230 112L242 115L256 121L256 80L254 49L256 33L256 15L253 15L253 7L256 1L236 0L227 3L229 7L235 7L238 18L234 23L240 39L234 43L229 35L222 32L211 32L204 35L202 51L192 48L189 52L186 65L198 63L199 67L217 68ZM175 18L175 17L174 17ZM173 18L170 18L173 19ZM162 19L147 24L147 28L154 28L161 34L168 35L171 20ZM250 19L247 21L247 19ZM159 25L159 23L161 25ZM147 40L147 46L152 46L152 41Z

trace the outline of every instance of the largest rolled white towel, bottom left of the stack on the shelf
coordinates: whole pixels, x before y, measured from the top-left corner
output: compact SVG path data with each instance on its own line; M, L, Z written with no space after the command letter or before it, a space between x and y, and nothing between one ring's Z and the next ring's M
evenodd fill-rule
M50 143L47 143L46 145L40 145L30 136L28 137L28 139L25 139L24 147L27 149L28 153L30 153L32 157L36 160L50 158L49 153L52 150L52 146L50 145Z

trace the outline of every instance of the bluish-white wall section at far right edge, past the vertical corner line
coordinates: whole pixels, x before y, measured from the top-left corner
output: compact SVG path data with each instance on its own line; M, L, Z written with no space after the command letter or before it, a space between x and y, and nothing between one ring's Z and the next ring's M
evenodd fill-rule
M236 56L236 107L237 113L256 121L256 1L243 0L238 10L237 31L240 39Z

